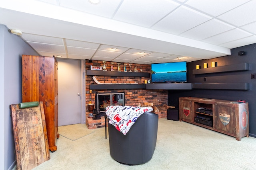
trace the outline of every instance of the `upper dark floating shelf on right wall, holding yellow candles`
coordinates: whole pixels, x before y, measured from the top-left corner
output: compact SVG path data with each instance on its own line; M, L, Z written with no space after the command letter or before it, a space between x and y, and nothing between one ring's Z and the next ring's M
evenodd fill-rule
M201 68L193 70L193 74L207 74L215 72L232 72L232 71L246 71L249 70L248 63L232 64L227 66L217 66L210 68Z

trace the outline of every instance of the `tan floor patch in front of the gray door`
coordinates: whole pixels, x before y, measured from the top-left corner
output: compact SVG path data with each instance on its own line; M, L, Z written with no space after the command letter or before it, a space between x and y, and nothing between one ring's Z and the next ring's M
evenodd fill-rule
M88 129L85 124L74 124L58 127L59 135L72 141L76 141L77 139L80 139L93 132L94 131Z

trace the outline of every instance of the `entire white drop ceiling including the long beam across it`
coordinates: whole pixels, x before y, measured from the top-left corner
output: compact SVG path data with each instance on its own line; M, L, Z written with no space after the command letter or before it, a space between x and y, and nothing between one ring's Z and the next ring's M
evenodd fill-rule
M22 31L42 56L190 62L256 43L255 6L256 0L5 0L0 24Z

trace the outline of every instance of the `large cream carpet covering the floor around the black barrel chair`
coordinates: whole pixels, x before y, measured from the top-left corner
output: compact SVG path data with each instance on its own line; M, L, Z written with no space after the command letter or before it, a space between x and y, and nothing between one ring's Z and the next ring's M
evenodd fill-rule
M82 126L87 128L85 124ZM50 152L50 160L34 170L256 170L254 137L236 141L234 137L190 123L161 118L152 159L127 166L111 158L105 128L89 131L94 133L76 141L60 136L58 149Z

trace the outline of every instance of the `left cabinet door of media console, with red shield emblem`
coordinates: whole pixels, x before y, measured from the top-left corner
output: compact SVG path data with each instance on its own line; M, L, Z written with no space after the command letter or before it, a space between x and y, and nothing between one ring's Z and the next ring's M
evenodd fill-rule
M192 103L194 102L186 98L179 99L180 121L194 122L194 104Z

